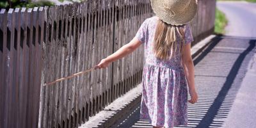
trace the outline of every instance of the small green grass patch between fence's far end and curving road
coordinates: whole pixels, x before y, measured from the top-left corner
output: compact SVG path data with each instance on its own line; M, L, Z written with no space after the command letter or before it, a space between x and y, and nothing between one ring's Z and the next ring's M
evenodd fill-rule
M214 33L224 34L225 26L227 26L227 23L228 20L225 14L216 8Z

